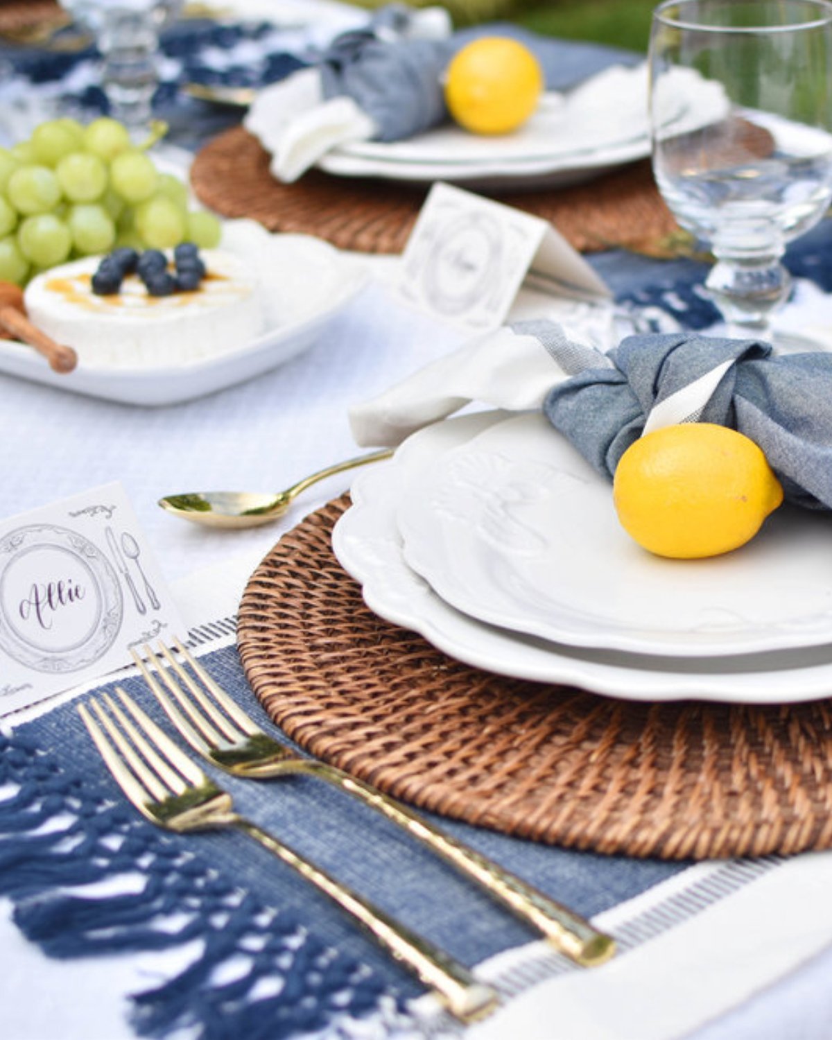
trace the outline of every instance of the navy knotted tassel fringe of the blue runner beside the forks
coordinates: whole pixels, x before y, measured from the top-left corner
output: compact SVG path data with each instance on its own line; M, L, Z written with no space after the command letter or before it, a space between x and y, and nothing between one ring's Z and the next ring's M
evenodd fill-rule
M199 940L184 970L134 994L140 1035L196 1025L203 1040L279 1040L376 1010L382 979L296 913L267 908L127 804L110 803L26 735L0 734L0 791L12 791L0 800L0 892L46 954L111 956ZM77 891L137 872L138 891ZM233 979L218 983L230 963Z

